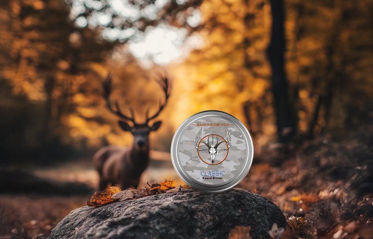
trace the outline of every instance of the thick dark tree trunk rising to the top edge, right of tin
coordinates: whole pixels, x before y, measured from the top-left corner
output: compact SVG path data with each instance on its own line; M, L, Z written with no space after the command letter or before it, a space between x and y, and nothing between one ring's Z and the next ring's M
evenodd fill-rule
M288 89L284 71L284 26L283 2L271 0L272 35L267 49L272 69L272 90L276 111L278 140L287 143L295 133L295 120L288 100Z

